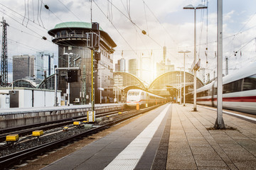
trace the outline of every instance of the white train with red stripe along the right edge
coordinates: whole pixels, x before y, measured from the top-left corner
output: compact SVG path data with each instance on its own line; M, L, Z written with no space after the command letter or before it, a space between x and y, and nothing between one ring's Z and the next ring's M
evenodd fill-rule
M193 93L188 94L193 100ZM196 91L196 103L217 105L217 81ZM256 114L256 62L223 77L223 108Z

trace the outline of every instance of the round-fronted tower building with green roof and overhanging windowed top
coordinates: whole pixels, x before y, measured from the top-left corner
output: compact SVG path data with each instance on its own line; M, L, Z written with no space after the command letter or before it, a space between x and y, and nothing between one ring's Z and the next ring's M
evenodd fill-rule
M90 103L91 50L88 43L92 40L89 35L92 32L92 23L85 22L58 23L55 28L48 31L48 34L53 36L52 41L58 45L58 68L80 68L78 81L70 83L70 103ZM113 53L114 47L117 45L102 28L99 29L99 32L100 60L95 74L95 103L100 103L100 84L105 89L102 91L102 103L110 103L114 100ZM68 96L66 77L66 70L58 72L58 90L62 91L63 100Z

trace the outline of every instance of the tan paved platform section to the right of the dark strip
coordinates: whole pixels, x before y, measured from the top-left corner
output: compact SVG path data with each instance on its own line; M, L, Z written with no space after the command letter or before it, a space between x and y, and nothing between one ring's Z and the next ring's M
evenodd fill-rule
M213 127L216 111L172 105L166 169L256 169L256 124L223 114L227 127Z

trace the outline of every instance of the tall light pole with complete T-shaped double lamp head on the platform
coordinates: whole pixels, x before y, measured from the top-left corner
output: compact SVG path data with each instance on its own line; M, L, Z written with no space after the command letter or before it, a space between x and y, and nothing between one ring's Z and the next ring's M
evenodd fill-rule
M194 82L193 82L193 86L194 86L194 95L193 95L193 111L196 111L196 9L201 9L201 8L207 8L207 6L204 6L202 4L199 4L198 6L193 6L193 5L188 5L188 6L184 6L183 9L193 9L194 10Z

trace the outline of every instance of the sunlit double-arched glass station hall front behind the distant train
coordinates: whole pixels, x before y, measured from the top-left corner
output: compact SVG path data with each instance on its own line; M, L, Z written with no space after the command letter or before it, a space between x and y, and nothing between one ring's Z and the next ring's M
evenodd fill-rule
M185 93L188 94L193 91L193 74L185 72L186 86ZM196 88L203 86L203 82L197 79ZM114 96L117 102L125 102L127 91L129 89L142 89L149 91L152 94L170 98L178 98L178 94L181 94L183 98L183 72L172 71L162 74L157 77L151 84L147 85L141 79L126 72L114 72Z

